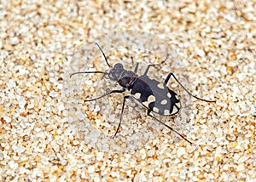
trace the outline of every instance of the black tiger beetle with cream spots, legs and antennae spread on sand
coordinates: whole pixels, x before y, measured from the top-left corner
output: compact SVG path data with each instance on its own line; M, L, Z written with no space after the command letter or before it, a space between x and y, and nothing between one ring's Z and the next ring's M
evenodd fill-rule
M194 97L197 100L202 100L206 102L216 102L215 100L203 100L189 92L187 88L183 86L181 82L177 80L177 78L174 76L174 74L171 72L168 74L168 76L165 79L164 83L160 83L157 80L150 79L148 77L148 70L150 66L154 65L148 65L146 68L146 71L142 76L137 75L137 69L138 69L138 63L135 65L134 71L128 71L125 70L124 66L121 63L116 63L115 65L111 66L108 63L107 57L102 51L102 48L99 46L98 43L96 43L96 46L100 49L105 62L107 63L108 67L110 67L110 71L79 71L74 72L70 75L70 77L73 77L75 74L79 73L101 73L103 74L103 77L108 76L110 80L113 80L115 82L119 82L119 85L122 87L121 89L113 89L107 94L103 94L100 97L97 97L95 99L91 100L84 100L84 102L89 102L93 100L101 99L102 97L105 97L109 94L113 93L124 93L127 89L131 95L125 95L123 100L123 105L121 109L121 116L119 120L118 128L116 129L115 134L112 138L115 137L115 135L119 131L119 127L122 121L123 117L123 111L125 108L125 100L127 99L135 99L140 104L142 104L147 110L147 115L149 117L152 117L155 121L160 122L176 134L178 134L180 137L185 139L187 142L192 144L188 139L183 137L182 134L179 134L175 129L172 127L166 125L166 123L160 121L160 119L154 117L151 112L157 113L161 116L172 116L177 114L177 112L181 109L181 103L180 100L177 97L177 94L172 91L170 88L167 87L167 82L169 81L170 77L173 77L175 81L192 97Z

